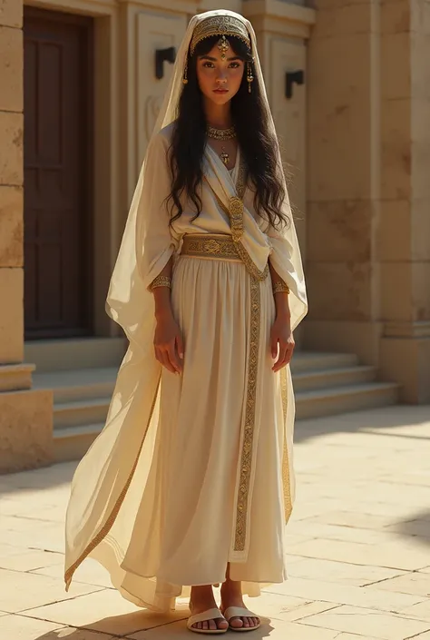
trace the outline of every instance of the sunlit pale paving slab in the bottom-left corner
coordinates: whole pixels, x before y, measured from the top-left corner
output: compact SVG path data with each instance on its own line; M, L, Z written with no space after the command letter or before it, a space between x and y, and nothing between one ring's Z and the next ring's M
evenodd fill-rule
M1 0L0 0L1 2ZM98 634L89 629L74 629L64 627L44 620L34 620L34 618L24 615L7 615L1 623L5 637L14 640L111 640L112 635Z

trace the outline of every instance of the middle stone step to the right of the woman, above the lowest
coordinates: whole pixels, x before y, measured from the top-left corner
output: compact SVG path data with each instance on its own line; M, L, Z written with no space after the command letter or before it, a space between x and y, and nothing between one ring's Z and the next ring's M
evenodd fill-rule
M376 367L358 366L336 369L316 369L293 372L294 390L332 389L372 382L376 379Z

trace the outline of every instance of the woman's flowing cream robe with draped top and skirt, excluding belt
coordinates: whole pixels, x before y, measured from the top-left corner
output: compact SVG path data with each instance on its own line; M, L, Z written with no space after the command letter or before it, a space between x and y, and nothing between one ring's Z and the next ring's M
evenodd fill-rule
M66 585L93 556L122 596L156 610L173 608L185 586L222 582L228 562L249 595L259 594L260 583L282 582L294 499L294 397L289 369L271 370L270 278L256 279L242 261L181 255L185 234L231 235L220 202L228 208L236 194L239 160L230 175L208 147L202 212L192 222L185 201L169 226L170 138L171 125L152 139L146 187L129 220L137 230L133 277L122 287L112 281L108 306L130 346L106 427L73 478L66 520ZM287 282L294 328L306 313L294 224L269 227L249 189L243 202L241 248L257 271L270 258ZM181 376L161 371L154 358L148 291L172 254L172 308L185 341Z

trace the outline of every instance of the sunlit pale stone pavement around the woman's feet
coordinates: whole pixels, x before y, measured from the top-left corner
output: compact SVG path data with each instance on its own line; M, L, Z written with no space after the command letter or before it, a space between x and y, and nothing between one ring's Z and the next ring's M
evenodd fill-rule
M264 625L249 640L430 640L430 407L298 422L296 443L290 579L250 601ZM91 560L65 593L74 467L0 478L1 640L197 637L185 606L139 610Z

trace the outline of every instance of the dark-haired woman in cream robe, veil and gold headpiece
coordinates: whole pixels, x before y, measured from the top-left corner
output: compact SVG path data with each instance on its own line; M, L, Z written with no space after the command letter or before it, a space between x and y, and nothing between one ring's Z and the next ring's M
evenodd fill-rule
M287 365L306 304L255 34L229 11L197 15L112 275L130 346L73 478L67 588L92 556L138 606L171 610L191 587L193 632L259 626L242 593L286 576Z

